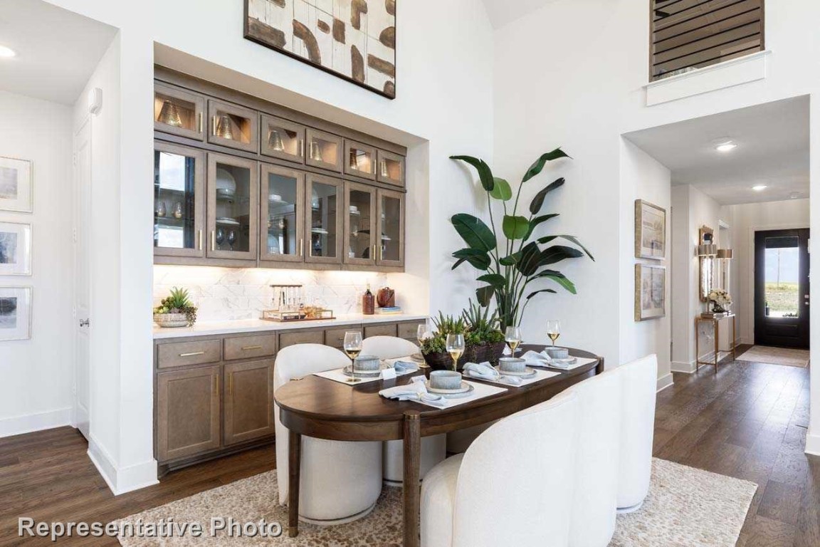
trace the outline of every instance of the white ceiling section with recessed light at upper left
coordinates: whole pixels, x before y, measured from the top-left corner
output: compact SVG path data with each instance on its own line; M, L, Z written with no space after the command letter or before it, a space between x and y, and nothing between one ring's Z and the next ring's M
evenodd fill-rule
M80 96L116 29L41 0L0 0L0 89L56 103Z

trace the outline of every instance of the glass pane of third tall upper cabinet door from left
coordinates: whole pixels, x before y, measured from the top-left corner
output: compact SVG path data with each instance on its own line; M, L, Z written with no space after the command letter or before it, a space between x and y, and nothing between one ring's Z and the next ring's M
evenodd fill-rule
M298 253L296 198L298 180L292 176L267 175L267 252ZM264 198L264 196L263 196Z

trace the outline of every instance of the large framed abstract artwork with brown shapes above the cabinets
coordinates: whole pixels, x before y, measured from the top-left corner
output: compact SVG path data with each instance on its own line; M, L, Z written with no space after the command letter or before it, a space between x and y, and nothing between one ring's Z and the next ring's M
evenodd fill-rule
M244 37L396 96L396 0L244 0Z

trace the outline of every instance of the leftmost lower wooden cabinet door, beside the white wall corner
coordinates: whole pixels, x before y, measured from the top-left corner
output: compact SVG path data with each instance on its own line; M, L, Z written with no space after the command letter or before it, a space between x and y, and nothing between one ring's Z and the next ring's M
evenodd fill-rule
M220 446L221 366L157 373L157 460Z

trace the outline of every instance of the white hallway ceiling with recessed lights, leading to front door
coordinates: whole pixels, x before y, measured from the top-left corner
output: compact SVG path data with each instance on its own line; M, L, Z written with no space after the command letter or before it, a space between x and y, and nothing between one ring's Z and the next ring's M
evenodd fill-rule
M722 112L624 135L672 171L673 185L694 185L722 205L809 197L809 98ZM729 137L730 153L714 149ZM754 185L766 185L761 192Z

